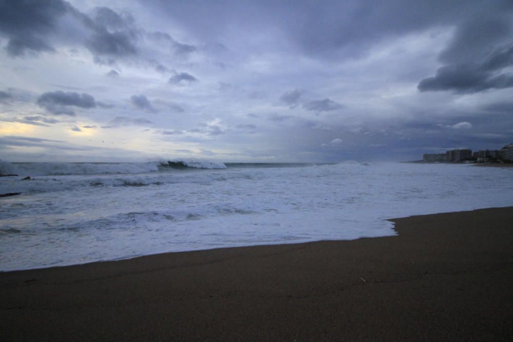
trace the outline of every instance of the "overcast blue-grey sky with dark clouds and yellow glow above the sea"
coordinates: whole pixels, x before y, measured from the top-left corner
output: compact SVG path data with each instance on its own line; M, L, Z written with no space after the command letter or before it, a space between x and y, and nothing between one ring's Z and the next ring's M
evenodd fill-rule
M0 0L0 159L416 160L513 143L511 0Z

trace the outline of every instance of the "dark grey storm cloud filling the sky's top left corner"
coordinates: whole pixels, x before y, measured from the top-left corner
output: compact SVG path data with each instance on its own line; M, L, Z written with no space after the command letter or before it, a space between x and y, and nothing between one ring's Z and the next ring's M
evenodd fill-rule
M1 0L0 33L7 37L7 53L23 56L26 52L54 51L48 35L55 31L58 17L68 4L61 0Z

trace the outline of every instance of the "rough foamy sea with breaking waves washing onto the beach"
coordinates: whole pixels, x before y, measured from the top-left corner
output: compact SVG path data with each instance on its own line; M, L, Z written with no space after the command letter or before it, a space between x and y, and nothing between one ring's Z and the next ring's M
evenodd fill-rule
M15 194L0 197L0 271L391 236L390 218L513 206L513 168L462 164L0 160L0 174L15 174L0 177Z

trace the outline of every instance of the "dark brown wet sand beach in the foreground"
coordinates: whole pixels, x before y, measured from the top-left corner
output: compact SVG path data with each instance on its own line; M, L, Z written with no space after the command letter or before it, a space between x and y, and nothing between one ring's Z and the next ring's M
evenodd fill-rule
M0 339L513 340L513 208L397 236L0 273Z

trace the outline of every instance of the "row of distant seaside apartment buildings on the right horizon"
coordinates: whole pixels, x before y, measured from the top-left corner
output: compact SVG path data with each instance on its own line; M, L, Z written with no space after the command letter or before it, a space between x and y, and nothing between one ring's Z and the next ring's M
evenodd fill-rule
M449 150L445 153L426 153L424 163L513 163L513 144L500 150L479 150L472 154L469 149Z

